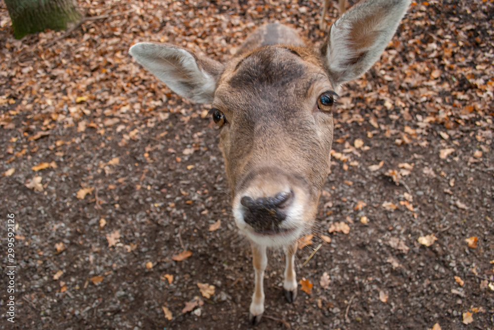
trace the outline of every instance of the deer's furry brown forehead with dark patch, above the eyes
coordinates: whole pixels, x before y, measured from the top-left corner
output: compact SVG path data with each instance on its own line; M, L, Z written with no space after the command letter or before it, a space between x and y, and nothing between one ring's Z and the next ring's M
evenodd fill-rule
M219 79L213 106L226 111L246 106L259 109L261 104L282 108L283 105L301 106L317 97L313 93L322 92L313 87L322 84L331 89L320 59L309 49L265 46L227 65Z

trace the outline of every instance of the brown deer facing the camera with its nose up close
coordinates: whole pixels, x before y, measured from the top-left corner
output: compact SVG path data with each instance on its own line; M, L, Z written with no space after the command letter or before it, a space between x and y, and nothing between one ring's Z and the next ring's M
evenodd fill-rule
M211 105L233 218L252 249L251 325L264 313L267 248L284 249L283 289L288 302L297 296L297 240L311 230L329 174L338 93L380 58L410 3L364 0L329 27L320 47L294 28L262 25L226 63L173 44L129 49L173 92Z

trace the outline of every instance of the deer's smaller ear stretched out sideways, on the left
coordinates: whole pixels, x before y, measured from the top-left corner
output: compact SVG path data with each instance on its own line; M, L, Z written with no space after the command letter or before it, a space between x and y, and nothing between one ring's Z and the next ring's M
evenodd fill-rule
M223 70L219 62L182 47L154 42L136 43L129 54L178 95L196 103L213 101Z

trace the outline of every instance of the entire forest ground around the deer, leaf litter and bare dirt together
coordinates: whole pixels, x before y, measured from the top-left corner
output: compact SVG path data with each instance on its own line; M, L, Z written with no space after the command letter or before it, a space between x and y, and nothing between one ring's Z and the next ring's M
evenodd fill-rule
M274 21L321 42L321 2L85 1L94 19L20 41L1 3L0 329L248 328L249 244L208 107L127 50L167 41L225 60ZM297 253L312 293L288 304L271 252L257 329L494 328L493 7L413 2L380 62L344 87L314 237Z

